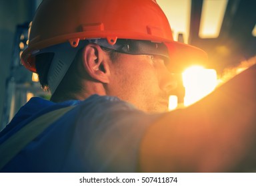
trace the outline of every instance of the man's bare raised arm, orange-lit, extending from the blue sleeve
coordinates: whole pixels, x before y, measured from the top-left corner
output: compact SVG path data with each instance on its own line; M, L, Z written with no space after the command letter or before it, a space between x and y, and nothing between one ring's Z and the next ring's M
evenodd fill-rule
M183 110L165 114L141 142L140 171L256 169L256 65Z

